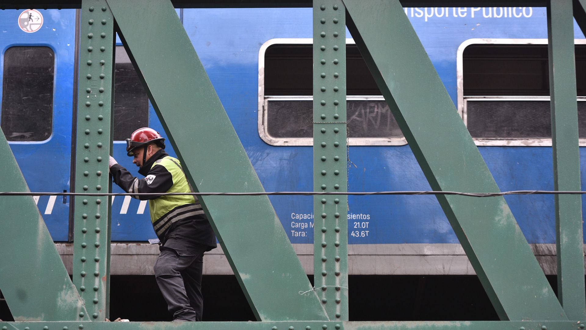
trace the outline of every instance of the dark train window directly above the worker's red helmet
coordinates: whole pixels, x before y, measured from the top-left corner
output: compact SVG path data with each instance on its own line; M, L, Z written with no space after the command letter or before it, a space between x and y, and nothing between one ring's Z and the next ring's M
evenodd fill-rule
M114 140L125 140L148 126L148 96L123 46L116 47L114 70Z

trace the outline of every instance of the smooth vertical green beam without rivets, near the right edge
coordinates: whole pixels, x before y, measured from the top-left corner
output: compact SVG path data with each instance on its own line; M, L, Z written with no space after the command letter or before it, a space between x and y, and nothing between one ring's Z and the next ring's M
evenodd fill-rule
M554 189L580 190L578 104L571 0L551 0L547 32ZM570 319L586 319L582 198L556 195L557 292Z

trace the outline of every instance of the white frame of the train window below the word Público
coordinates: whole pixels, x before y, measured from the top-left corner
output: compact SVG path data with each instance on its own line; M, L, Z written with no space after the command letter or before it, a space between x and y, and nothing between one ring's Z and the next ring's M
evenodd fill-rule
M458 47L456 56L456 75L458 87L458 113L468 126L466 104L468 101L549 101L549 96L464 96L464 50L471 45L547 45L547 39L468 39ZM574 39L575 45L586 45L586 39ZM586 97L578 97L586 101ZM551 138L474 138L478 146L520 146L551 147ZM586 147L586 138L579 139L580 147Z

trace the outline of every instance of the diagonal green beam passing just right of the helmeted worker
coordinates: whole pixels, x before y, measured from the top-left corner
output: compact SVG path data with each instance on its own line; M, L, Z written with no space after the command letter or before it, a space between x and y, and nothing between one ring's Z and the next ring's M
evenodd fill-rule
M264 191L171 1L108 5L194 190ZM326 319L267 196L200 202L257 319Z

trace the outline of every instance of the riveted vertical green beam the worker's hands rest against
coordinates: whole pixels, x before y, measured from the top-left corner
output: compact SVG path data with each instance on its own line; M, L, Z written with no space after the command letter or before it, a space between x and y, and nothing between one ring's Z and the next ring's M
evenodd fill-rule
M114 19L105 0L81 2L76 192L108 192L114 81ZM85 321L109 314L110 198L74 200L73 283L87 305Z

